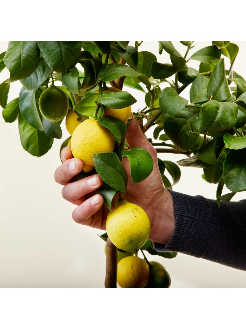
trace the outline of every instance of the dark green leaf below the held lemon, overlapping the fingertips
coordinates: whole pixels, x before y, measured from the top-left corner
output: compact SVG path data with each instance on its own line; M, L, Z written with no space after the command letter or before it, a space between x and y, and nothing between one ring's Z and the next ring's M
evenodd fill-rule
M126 193L127 172L113 152L93 154L96 172L113 189Z

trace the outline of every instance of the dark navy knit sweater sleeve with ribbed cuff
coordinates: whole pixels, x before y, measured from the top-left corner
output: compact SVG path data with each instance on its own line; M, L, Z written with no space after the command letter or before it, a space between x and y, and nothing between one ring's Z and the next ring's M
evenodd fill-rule
M175 229L157 251L176 251L246 270L246 200L222 202L169 190Z

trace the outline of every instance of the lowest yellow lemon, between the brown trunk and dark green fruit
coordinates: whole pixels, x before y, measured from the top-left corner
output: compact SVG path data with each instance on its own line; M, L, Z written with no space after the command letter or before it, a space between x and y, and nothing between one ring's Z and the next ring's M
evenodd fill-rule
M144 288L149 276L149 266L142 258L128 256L118 263L117 282L121 288Z

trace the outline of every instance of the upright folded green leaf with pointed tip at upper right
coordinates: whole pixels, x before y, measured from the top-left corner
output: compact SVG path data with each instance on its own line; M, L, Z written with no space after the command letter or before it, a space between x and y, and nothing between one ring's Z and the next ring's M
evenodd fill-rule
M225 76L225 63L221 59L215 66L207 87L207 96L210 99L221 102L222 100L231 97L231 91Z

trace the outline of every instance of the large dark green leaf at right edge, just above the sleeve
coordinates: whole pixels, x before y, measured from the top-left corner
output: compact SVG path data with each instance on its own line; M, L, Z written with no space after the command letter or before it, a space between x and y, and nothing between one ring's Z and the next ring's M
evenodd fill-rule
M246 147L230 150L223 164L223 180L232 192L246 190Z

